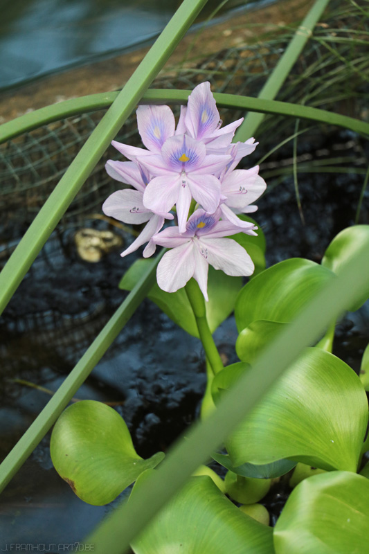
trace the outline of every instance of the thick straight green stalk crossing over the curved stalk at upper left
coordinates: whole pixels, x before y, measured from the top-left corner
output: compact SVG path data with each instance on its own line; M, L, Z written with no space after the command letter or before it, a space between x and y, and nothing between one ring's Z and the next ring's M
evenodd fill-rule
M78 190L207 0L184 0L48 197L0 274L0 314Z

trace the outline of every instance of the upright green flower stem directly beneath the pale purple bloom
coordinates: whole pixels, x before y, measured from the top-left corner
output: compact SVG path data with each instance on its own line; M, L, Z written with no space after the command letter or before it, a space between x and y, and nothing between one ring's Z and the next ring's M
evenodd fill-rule
M188 281L185 290L195 315L197 329L199 330L199 336L204 346L206 358L208 359L213 374L216 375L224 368L224 365L219 356L217 347L215 346L213 335L210 332L208 320L206 319L204 296L195 279L190 279Z

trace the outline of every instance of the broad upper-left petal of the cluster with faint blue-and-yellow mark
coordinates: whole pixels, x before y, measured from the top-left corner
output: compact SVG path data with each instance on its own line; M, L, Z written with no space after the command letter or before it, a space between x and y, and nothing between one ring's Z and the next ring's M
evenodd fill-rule
M169 106L138 106L138 132L148 150L160 154L169 136L174 135L175 120Z

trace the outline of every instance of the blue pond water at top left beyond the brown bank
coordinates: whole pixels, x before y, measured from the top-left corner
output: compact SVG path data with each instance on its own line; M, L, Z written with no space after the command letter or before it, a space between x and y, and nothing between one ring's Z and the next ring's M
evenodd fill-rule
M2 2L3 3L3 2ZM5 0L0 22L0 90L151 42L179 0ZM271 0L228 0L222 8ZM204 19L220 4L209 0Z

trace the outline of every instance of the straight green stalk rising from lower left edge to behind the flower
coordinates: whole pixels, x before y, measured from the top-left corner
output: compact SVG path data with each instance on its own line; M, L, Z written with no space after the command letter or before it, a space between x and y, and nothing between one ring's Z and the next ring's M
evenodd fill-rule
M111 343L116 339L119 332L141 304L143 298L150 291L156 278L156 266L164 252L157 256L154 265L150 265L150 268L138 281L132 292L125 298L122 305L118 307L118 310L116 310L115 314L109 319L102 331L100 331L98 337L96 337L80 361L78 361L78 364L66 377L63 384L57 389L51 400L48 401L42 412L39 413L26 433L3 460L0 465L0 492L55 423L60 413L62 413L71 398L78 391L78 388L87 379L91 370L93 370L105 354Z

